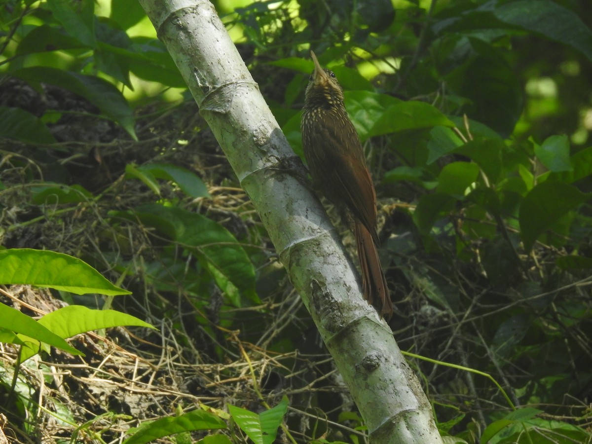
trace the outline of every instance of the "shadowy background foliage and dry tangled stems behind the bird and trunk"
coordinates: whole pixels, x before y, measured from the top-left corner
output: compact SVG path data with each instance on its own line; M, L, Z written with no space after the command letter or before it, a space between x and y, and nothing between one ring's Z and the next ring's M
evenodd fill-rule
M489 379L410 359L440 430L590 442L592 4L215 5L297 153L310 49L346 89L401 349L487 372L527 407L512 416ZM346 387L139 4L8 0L0 21L0 242L81 258L133 292L12 287L2 302L27 314L56 298L112 304L160 329L88 336L85 358L25 363L18 396L2 346L4 433L115 442L195 404L259 413L259 393L284 407L288 395L297 442L362 442ZM169 440L190 439L179 436Z

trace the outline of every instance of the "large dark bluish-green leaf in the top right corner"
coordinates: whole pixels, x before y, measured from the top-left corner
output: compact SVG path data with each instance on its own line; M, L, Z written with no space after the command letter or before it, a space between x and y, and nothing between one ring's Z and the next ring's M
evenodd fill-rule
M565 43L592 61L592 31L574 12L551 0L504 2L493 11L503 22Z

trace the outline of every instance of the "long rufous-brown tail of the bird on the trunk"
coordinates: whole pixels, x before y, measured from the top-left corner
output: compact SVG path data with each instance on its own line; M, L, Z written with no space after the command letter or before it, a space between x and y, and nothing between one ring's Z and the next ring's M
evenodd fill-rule
M388 293L387 280L384 278L378 258L376 244L365 225L357 219L355 223L364 298L376 308L380 316L388 320L392 316L392 301Z

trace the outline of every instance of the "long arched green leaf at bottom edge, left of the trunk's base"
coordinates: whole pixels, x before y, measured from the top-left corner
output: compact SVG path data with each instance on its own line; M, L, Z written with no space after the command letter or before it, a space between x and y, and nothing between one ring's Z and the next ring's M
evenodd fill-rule
M226 423L212 413L194 410L181 416L169 416L142 424L123 444L144 444L175 433L214 429L226 429Z

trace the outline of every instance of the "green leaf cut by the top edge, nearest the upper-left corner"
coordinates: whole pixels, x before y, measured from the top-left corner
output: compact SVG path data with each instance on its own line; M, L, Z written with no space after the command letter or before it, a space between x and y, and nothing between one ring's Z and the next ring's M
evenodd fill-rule
M75 10L72 5L78 5ZM94 1L82 0L69 2L68 0L47 0L47 6L53 17L62 24L70 36L76 38L88 47L95 47L94 30Z

